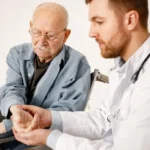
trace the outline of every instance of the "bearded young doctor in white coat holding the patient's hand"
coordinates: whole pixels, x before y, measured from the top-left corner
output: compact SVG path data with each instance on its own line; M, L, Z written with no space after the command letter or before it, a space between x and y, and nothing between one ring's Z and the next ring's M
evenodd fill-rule
M18 106L21 111L11 110L15 137L27 145L46 144L55 150L150 150L148 1L85 2L90 37L104 58L115 58L105 104L87 113ZM51 128L41 129L45 127Z

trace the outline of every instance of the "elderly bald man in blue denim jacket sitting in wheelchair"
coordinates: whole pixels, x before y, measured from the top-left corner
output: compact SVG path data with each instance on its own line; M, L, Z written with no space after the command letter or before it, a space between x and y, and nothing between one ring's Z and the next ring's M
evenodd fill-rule
M65 45L67 10L56 3L39 5L30 22L32 44L13 47L7 56L7 80L1 88L1 113L11 115L18 104L59 111L84 108L90 88L90 67L81 53ZM11 130L3 120L0 133Z

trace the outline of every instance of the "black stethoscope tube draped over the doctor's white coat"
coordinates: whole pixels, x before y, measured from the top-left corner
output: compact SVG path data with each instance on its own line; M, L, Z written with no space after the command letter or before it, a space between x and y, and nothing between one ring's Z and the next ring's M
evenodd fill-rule
M146 63L146 61L148 60L148 58L150 57L150 54L147 55L147 57L144 59L144 61L142 62L140 68L135 72L135 74L132 76L131 81L134 84L139 77L140 71L142 70L144 64Z

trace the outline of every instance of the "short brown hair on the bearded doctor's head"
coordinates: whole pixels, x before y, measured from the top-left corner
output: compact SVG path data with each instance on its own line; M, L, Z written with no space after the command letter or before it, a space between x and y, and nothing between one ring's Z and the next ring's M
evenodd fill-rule
M86 4L94 0L85 0ZM139 21L142 27L148 26L148 0L108 0L110 5L116 12L120 12L120 8L125 11L135 10L139 14Z

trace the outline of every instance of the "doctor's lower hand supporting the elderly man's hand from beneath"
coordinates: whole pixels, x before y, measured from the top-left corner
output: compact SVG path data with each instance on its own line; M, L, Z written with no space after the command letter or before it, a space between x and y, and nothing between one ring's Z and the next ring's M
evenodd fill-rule
M36 129L29 132L16 132L13 129L15 138L30 146L46 145L46 140L50 132L51 130L48 129Z

